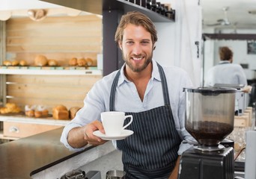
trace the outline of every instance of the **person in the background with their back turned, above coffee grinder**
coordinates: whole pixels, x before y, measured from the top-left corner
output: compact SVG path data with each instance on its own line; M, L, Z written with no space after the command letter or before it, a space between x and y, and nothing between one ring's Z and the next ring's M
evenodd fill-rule
M213 87L214 84L247 85L246 74L242 66L234 64L233 51L227 46L219 48L220 62L207 72L205 87Z

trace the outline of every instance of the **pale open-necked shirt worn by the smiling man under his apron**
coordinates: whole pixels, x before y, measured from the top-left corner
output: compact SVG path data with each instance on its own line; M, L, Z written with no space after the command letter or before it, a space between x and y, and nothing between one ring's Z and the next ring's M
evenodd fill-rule
M178 134L181 139L193 140L192 136L185 129L185 95L184 87L192 87L189 75L178 67L162 66L165 72L168 92L171 102L171 110L174 116L174 122ZM100 113L109 111L109 95L112 87L112 82L118 71L103 77L100 81L94 84L94 87L88 92L84 107L76 113L76 117L70 121L64 128L61 135L61 142L70 150L81 150L83 148L72 148L67 142L67 134L72 128L87 125L94 120L100 120ZM118 87L115 94L115 110L124 112L138 113L145 110L150 110L155 107L164 105L162 94L162 84L159 75L159 69L156 61L153 60L153 72L150 81L147 84L147 89L144 93L144 99L138 96L135 84L127 80L124 75L124 66L121 68L121 75L118 80ZM115 144L115 142L114 142ZM182 154L187 148L191 147L187 143L181 143L178 154Z

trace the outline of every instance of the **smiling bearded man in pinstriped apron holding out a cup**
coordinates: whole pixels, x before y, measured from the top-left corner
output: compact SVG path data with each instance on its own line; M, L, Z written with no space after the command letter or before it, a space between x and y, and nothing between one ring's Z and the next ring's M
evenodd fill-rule
M177 178L178 155L191 145L184 128L183 88L191 87L189 76L177 67L159 66L153 57L157 35L153 22L142 13L122 16L115 34L124 58L121 70L94 84L85 105L63 131L67 148L103 144L92 134L100 130L100 113L124 111L133 116L127 129L132 136L117 140L122 151L126 178ZM175 165L176 164L176 165ZM173 171L173 172L172 172Z

